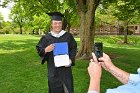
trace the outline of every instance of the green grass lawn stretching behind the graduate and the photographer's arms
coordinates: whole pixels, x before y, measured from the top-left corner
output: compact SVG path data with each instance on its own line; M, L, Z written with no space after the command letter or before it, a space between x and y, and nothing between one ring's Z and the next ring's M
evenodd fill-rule
M40 64L35 49L39 39L31 35L0 35L0 93L48 93L47 65ZM122 36L95 37L95 41L104 43L104 51L112 56L115 65L136 73L140 67L140 37L129 36L129 45L117 44L122 39ZM73 67L75 93L88 90L88 62L76 60ZM103 70L101 93L118 85L121 83Z

